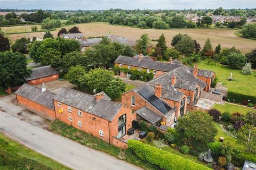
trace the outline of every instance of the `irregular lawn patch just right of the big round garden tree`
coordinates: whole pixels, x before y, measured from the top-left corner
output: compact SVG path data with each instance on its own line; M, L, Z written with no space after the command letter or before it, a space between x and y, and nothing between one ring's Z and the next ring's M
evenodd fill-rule
M237 142L236 138L229 136L227 133L223 132L220 125L216 122L213 123L215 128L218 130L218 134L215 136L215 140L219 141L220 137L224 137L224 143L228 143L231 147L236 147L238 149L244 150L244 146Z

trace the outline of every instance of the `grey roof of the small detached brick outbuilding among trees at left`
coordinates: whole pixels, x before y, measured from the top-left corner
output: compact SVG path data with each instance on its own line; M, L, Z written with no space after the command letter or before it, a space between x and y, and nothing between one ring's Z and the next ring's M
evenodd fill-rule
M59 74L59 72L56 71L54 69L54 67L52 67L51 65L37 67L37 68L31 69L31 71L32 71L32 73L31 73L30 77L24 78L26 81L44 78L44 77L48 77L48 76L54 75L54 74Z

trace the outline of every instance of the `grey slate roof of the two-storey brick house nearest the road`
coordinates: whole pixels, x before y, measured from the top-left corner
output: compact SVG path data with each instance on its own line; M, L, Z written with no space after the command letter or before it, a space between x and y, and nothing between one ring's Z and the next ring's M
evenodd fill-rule
M59 93L53 99L108 121L112 121L122 107L122 105L105 99L96 101L95 97L92 95L87 95L83 92L68 88L61 88Z

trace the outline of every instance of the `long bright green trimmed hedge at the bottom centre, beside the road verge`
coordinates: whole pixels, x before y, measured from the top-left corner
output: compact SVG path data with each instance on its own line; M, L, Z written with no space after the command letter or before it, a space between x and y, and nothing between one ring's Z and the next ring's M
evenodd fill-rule
M208 170L211 169L204 165L195 163L189 159L171 154L156 147L149 146L137 140L129 140L128 148L131 149L137 157L150 164L157 165L160 169L166 170Z

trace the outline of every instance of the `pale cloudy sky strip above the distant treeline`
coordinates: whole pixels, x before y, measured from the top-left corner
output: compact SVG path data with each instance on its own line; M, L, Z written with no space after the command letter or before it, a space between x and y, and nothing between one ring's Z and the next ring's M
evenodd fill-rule
M43 10L256 8L255 0L0 0L0 8Z

